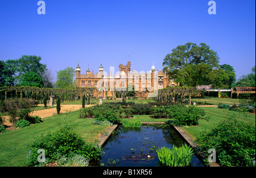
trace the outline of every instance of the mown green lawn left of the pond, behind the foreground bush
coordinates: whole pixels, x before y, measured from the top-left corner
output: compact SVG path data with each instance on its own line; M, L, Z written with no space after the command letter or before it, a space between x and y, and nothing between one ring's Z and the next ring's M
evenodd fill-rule
M28 155L30 144L34 142L37 135L55 131L57 126L65 119L77 125L77 131L88 141L93 141L99 134L104 133L106 126L92 125L91 119L81 119L79 110L71 113L53 115L37 123L18 130L0 134L0 166L24 166L26 155Z

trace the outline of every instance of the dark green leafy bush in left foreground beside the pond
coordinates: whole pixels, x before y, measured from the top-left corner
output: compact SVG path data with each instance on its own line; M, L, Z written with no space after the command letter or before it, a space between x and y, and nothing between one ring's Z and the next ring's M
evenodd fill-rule
M46 151L46 162L57 162L63 156L73 157L74 154L83 156L86 160L98 159L101 147L97 143L85 142L77 134L74 126L68 122L61 124L57 131L39 136L31 145L28 165L38 165L38 149Z

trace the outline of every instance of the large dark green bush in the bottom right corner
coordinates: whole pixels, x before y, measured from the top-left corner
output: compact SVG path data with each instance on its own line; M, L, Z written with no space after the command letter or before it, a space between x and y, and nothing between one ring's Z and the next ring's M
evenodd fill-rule
M238 121L235 117L228 115L213 129L202 131L196 137L196 142L205 155L209 155L208 150L214 148L217 162L222 166L253 166L255 125Z

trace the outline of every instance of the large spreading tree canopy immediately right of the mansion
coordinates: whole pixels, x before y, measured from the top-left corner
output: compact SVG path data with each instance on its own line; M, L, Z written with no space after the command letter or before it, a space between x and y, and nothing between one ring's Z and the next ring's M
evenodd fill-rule
M181 86L212 85L231 88L236 81L232 66L219 65L216 51L205 43L178 45L163 60L163 71Z

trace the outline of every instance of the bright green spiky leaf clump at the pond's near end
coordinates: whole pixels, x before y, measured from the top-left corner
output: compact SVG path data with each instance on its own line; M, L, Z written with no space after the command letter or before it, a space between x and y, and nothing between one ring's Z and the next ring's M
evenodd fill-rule
M187 144L182 147L176 147L175 145L170 148L161 147L156 150L158 158L161 163L172 167L184 167L188 166L192 160L193 150Z

